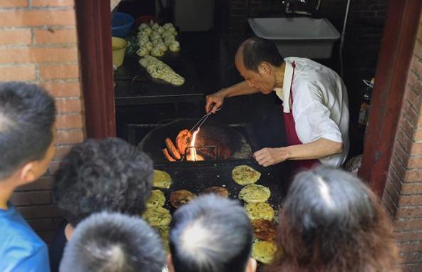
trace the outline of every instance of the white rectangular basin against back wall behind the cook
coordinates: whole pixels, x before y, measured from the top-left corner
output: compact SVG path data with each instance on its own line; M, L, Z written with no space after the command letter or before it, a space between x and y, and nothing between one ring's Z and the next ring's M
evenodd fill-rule
M249 18L259 38L274 41L284 57L330 58L339 31L325 18Z

